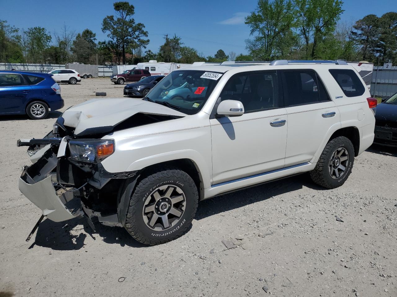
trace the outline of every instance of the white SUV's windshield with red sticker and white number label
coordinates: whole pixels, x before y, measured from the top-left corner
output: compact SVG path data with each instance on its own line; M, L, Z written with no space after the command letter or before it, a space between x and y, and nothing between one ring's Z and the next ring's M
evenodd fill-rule
M146 99L185 114L196 114L207 101L221 76L222 73L215 72L176 70L163 78L148 93Z

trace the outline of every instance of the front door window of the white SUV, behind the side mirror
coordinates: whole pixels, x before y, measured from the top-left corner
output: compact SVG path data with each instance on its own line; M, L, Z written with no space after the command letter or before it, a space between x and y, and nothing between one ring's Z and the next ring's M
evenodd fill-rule
M241 101L244 112L279 107L276 72L232 76L221 92L221 100Z

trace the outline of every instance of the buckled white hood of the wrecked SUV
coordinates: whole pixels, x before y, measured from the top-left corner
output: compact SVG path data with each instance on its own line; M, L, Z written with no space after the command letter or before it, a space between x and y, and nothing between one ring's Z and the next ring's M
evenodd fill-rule
M164 105L136 98L91 99L67 109L64 125L75 128L75 135L89 135L112 131L114 126L134 114L155 114L181 117L186 114Z

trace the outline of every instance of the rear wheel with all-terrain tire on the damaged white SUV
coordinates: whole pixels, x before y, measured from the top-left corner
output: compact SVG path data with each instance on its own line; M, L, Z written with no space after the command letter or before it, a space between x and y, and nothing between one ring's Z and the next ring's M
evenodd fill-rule
M339 136L327 143L316 167L310 171L314 183L329 189L343 185L354 163L353 143Z

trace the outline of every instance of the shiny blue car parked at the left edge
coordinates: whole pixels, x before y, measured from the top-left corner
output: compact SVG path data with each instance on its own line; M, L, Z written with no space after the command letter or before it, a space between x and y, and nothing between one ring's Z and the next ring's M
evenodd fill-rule
M0 71L0 115L27 114L33 120L46 118L48 110L64 107L61 88L52 74Z

